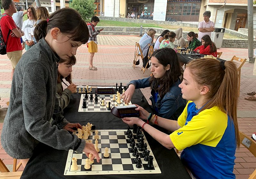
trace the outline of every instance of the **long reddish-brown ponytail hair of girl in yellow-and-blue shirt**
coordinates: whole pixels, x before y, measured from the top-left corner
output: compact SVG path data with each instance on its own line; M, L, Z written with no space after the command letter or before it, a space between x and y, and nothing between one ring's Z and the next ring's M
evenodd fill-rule
M205 94L209 101L199 112L218 106L222 112L228 114L234 122L236 145L239 147L240 139L236 113L238 102L237 69L236 64L231 61L226 61L223 65L226 68L225 70L222 69L220 61L212 58L202 58L191 61L186 68L198 84L209 87L210 92L207 93L208 95Z

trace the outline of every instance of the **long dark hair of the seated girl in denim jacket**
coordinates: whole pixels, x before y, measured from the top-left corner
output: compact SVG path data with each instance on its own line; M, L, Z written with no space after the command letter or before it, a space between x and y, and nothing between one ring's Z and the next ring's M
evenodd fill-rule
M170 65L170 70L166 71L162 79L155 78L154 75L150 78L150 88L158 92L160 98L169 91L180 77L180 64L176 52L172 48L161 48L154 51L152 56L156 57L158 62L166 67Z

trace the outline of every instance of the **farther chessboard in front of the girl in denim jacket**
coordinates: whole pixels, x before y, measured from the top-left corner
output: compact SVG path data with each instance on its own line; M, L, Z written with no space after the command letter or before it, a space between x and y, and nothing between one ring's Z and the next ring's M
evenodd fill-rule
M106 112L106 111L110 111L110 110L107 110L108 102L110 102L110 108L113 108L115 106L115 104L117 104L116 101L112 100L113 95L98 94L98 99L99 99L98 102L95 102L94 100L90 100L90 98L88 98L88 99L86 99L86 108L83 108L84 96L85 96L85 94L81 94L81 99L80 99L80 103L79 103L78 112ZM101 106L101 99L102 98L105 101L105 106ZM121 101L121 104L117 104L117 106L124 106L123 99L121 99L120 101ZM130 101L129 105L131 105L131 104L132 103Z

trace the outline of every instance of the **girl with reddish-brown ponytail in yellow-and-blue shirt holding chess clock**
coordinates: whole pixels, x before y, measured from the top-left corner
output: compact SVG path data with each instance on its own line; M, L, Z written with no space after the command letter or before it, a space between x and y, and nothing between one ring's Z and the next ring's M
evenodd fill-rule
M136 117L125 117L129 125L141 126L166 148L183 150L183 163L197 179L231 179L235 165L239 131L236 107L238 76L234 62L212 58L188 63L179 85L182 97L188 100L178 121L149 114L137 105L140 118L149 119L172 134L158 131Z

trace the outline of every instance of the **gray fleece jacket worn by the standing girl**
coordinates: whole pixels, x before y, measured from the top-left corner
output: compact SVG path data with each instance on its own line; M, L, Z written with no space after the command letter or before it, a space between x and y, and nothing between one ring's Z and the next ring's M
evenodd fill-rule
M4 150L15 159L30 158L39 142L59 150L84 149L85 140L62 129L68 121L56 98L57 61L59 57L43 38L22 55L15 68L1 135ZM51 117L56 125L49 122Z

